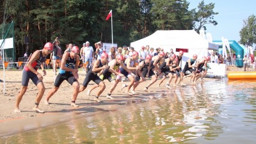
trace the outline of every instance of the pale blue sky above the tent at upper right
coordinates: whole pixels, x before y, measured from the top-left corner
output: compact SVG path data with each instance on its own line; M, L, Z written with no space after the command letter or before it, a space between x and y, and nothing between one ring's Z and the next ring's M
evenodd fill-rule
M187 0L189 10L197 8L202 0ZM218 22L216 26L206 24L205 33L211 33L212 40L221 40L221 37L239 42L239 31L243 28L243 20L250 15L256 15L256 0L204 0L205 4L215 3L214 20Z

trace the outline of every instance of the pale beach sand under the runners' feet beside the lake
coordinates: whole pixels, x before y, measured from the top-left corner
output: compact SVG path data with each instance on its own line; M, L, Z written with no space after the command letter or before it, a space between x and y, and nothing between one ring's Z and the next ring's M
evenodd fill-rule
M234 69L233 69L234 70ZM236 68L237 71L242 71L242 68ZM40 71L38 71L40 72ZM37 113L33 111L33 106L35 103L36 93L38 89L36 86L29 81L28 90L25 93L22 101L20 102L20 111L21 113L13 112L16 96L20 91L21 86L21 70L6 70L6 90L3 94L3 83L0 83L1 87L1 109L0 109L0 137L8 136L10 134L15 134L19 132L28 131L31 129L38 129L40 127L45 127L48 125L59 124L61 122L68 122L72 118L79 118L81 116L89 115L99 115L107 111L115 111L120 106L125 106L128 103L137 103L144 102L147 100L154 100L152 97L154 95L159 95L164 91L169 91L166 89L165 84L167 79L161 84L161 87L157 87L159 81L154 83L149 90L151 93L143 91L143 88L149 83L150 79L147 79L146 82L141 83L138 88L136 88L137 95L130 96L124 92L120 92L122 84L129 83L129 81L124 81L124 83L119 83L116 86L115 91L111 95L113 100L106 99L107 92L111 86L111 83L104 81L106 84L106 90L100 96L102 102L95 102L94 96L99 88L96 88L91 93L91 96L87 96L87 90L92 87L93 82L90 82L88 88L84 92L79 93L76 104L79 105L79 108L74 108L70 106L71 95L73 92L72 86L64 81L58 92L56 92L52 98L49 100L50 106L44 104L44 99L49 90L53 86L53 72L52 70L47 70L47 76L44 77L45 93L40 102L39 108L44 110L45 113ZM79 83L83 83L85 74L83 71L79 71ZM3 70L0 71L0 79L3 80ZM173 79L174 81L174 79ZM172 81L172 82L173 82ZM198 83L207 83L207 81L216 81L216 79L205 79L205 82ZM192 82L189 81L189 78L186 78L184 82L188 85L191 85ZM172 84L171 84L172 86ZM177 88L182 88L179 86ZM173 88L175 90L176 88Z

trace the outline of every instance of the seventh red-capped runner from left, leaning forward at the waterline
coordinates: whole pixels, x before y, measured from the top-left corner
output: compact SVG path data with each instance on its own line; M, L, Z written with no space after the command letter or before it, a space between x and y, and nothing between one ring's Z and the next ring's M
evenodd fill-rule
M158 67L158 63L159 63L159 61L162 59L162 58L164 58L164 52L160 52L157 56L154 56L153 58L152 58L152 60L151 60L151 62L150 62L150 70L149 70L149 72L148 72L148 76L150 76L151 77L151 81L150 81L150 83L148 83L147 84L147 86L144 88L144 91L145 92L150 92L149 90L148 90L148 88L152 85L152 84L154 84L154 83L156 83L156 81L157 81L157 77L159 76L159 74L161 73L161 69ZM156 70L156 74L154 73L154 71Z

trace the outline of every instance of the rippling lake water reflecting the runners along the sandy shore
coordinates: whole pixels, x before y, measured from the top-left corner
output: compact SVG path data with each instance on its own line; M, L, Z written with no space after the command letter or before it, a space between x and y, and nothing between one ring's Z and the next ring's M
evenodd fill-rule
M250 81L206 81L0 142L256 143L255 87Z

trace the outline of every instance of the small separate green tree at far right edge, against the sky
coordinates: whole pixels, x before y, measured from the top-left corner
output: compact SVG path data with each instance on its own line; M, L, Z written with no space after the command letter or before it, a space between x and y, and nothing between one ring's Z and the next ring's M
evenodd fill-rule
M239 43L253 45L256 44L256 17L250 15L247 20L244 20L244 26L241 29Z

